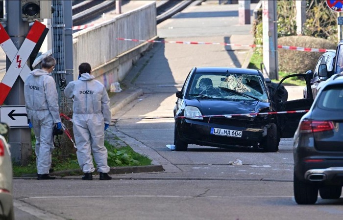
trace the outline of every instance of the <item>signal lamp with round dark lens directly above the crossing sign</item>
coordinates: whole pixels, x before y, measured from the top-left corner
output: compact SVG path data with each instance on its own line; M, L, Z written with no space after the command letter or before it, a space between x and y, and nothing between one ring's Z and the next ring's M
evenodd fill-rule
M22 19L25 22L51 18L51 0L22 0Z

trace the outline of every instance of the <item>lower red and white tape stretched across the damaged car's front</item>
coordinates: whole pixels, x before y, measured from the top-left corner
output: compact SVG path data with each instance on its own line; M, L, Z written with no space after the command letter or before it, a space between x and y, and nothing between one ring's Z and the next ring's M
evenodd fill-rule
M260 112L260 113L245 113L245 114L214 114L214 115L199 115L195 117L232 117L232 116L249 116L249 115L267 115L267 114L290 114L290 113L304 113L309 110L293 110L293 111L271 111L271 112ZM115 120L143 120L143 119L166 119L166 118L190 118L189 116L166 116L166 117L149 117L149 118L117 118Z

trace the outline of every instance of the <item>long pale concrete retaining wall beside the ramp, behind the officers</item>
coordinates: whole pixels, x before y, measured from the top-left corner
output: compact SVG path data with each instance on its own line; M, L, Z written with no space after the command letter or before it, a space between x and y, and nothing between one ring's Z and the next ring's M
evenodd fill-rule
M111 83L123 80L141 54L152 45L117 38L157 38L155 2L73 34L74 80L77 79L78 66L87 62L96 79L109 89Z

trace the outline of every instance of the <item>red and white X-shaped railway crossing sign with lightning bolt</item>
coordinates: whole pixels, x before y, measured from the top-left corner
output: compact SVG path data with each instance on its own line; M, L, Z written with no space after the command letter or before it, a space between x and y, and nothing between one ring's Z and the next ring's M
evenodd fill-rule
M43 34L45 28L46 26L41 22L34 22L30 31L27 33L22 46L18 50L3 26L0 24L0 45L8 59L12 61L0 83L0 105L5 101L18 76L21 76L23 81L25 81L28 73L31 71L26 65L26 61L31 55L32 50Z

